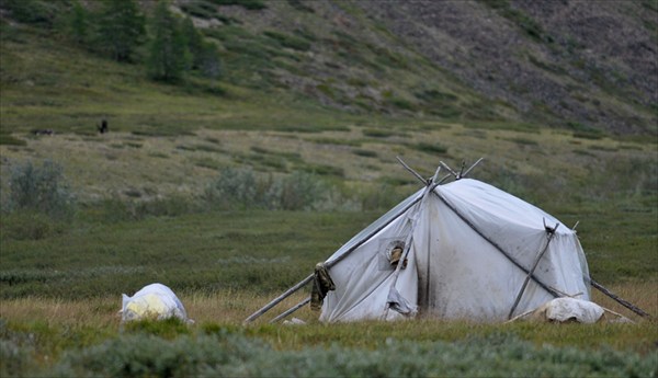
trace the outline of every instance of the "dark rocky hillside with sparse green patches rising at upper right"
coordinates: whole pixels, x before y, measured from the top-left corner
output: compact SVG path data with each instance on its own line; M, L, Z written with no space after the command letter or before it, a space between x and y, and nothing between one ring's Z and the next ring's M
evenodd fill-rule
M258 79L332 106L657 130L656 0L177 4Z

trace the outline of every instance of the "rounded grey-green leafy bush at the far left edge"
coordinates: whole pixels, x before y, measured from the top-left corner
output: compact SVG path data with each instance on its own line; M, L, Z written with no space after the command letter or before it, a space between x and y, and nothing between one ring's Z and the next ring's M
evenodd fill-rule
M12 168L9 179L9 211L30 210L65 218L72 215L75 197L64 182L63 168L46 160L41 167L32 162Z

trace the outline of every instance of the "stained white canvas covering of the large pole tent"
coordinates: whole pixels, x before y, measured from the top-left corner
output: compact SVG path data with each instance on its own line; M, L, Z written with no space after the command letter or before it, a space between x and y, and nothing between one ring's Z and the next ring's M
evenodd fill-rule
M531 279L514 313L553 299L546 287L582 293L589 300L580 242L553 216L477 180L462 179L423 193L411 195L327 260L342 259L329 268L337 288L325 298L321 321L393 320L412 317L416 309L447 319L506 320L544 249L534 271L543 285ZM545 225L558 225L549 242ZM396 266L387 256L390 245L400 243L408 249L408 263L396 279Z

